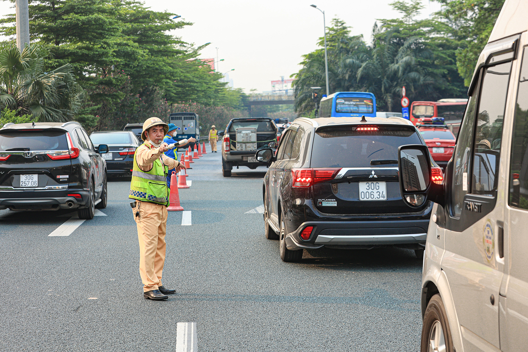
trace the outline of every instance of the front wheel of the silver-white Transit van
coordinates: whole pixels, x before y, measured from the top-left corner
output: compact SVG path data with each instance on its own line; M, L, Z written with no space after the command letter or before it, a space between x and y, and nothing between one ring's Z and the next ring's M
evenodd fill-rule
M446 308L438 293L431 297L423 316L420 352L432 351L455 351Z

